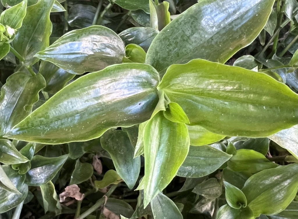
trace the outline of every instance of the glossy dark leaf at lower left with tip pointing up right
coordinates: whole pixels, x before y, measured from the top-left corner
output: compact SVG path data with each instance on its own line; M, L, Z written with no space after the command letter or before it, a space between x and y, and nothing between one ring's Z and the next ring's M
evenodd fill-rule
M57 158L46 158L35 155L31 160L31 169L26 173L26 183L30 186L40 186L52 180L61 169L68 154Z

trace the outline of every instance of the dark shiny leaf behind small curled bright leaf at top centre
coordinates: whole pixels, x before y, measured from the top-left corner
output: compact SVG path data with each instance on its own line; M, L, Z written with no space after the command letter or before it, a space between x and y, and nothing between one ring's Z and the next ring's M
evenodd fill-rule
M123 40L125 46L137 44L147 52L158 33L158 30L151 27L131 27L119 33L119 37Z

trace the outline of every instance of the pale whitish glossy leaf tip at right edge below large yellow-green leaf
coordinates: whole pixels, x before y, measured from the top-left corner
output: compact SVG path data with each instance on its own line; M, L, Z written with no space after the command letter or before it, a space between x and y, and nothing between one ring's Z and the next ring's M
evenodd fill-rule
M298 159L298 125L289 129L283 129L273 135L270 135L272 141L287 149Z

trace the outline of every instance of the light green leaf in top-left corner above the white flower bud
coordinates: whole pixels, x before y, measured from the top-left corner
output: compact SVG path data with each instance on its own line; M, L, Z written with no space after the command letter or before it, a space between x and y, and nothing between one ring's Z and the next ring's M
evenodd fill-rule
M18 29L22 26L23 19L26 15L27 0L8 8L0 16L0 23Z

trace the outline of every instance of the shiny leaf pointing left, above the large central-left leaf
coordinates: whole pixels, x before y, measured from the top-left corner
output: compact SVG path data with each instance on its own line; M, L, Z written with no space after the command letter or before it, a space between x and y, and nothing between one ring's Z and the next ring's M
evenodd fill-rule
M72 74L83 74L122 63L125 47L121 38L111 29L90 26L72 30L35 55Z

